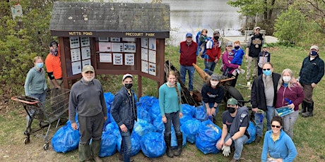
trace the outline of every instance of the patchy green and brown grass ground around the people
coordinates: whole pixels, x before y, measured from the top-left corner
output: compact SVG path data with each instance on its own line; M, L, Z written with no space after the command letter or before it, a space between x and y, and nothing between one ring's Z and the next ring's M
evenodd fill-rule
M165 58L169 59L173 65L179 68L179 49L175 46L166 46ZM271 63L273 63L274 71L281 73L283 69L290 68L297 77L302 60L307 56L308 51L301 48L287 48L287 47L271 47L268 49L271 52ZM320 50L320 55L322 56ZM324 57L322 57L324 58ZM203 61L198 60L198 66L204 68ZM221 73L218 63L215 68L215 73ZM243 61L243 68L246 70L247 62ZM201 79L199 74L195 73L194 89L201 89ZM117 75L101 75L98 76L102 80L102 85L105 92L115 93L121 87L122 76ZM143 94L149 96L157 96L157 83L147 78L142 79ZM244 75L240 75L237 80L236 88L240 90L245 100L249 100L250 90L246 85ZM136 88L137 85L134 85ZM314 89L314 117L297 119L294 127L295 137L293 142L297 147L298 156L295 161L325 161L325 79L321 80L317 87ZM78 150L71 151L67 154L58 154L53 151L51 145L49 150L44 151L42 145L44 140L42 138L31 137L30 144L23 144L23 131L25 129L25 111L23 106L13 101L9 102L11 111L1 113L0 116L0 161L78 161ZM223 108L220 108L218 113L217 125L222 126L220 120L220 114ZM265 130L264 130L265 131ZM261 161L261 149L263 142L259 144L252 143L244 145L242 151L242 161ZM223 154L207 154L204 155L199 149L196 149L195 144L187 143L184 148L182 156L175 158L167 158L162 156L159 158L146 158L141 151L134 156L136 161L230 161L233 153L228 157L224 157ZM104 161L118 161L117 154L113 156L103 158Z

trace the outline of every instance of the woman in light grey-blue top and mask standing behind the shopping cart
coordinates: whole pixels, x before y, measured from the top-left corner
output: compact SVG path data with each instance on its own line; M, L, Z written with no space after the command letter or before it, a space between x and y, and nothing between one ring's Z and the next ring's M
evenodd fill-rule
M46 99L47 83L45 80L45 70L43 68L43 58L41 56L36 56L33 59L33 63L34 67L30 68L25 79L25 95L32 96L35 99L39 99L40 102L44 102ZM34 112L30 112L30 115L33 113ZM30 116L27 116L27 127L30 127L31 124L32 118L30 118ZM28 130L28 132L30 131L31 130Z

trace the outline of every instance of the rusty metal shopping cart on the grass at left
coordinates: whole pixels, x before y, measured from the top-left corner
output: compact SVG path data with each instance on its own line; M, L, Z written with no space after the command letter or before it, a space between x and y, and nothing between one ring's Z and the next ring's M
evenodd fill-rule
M50 89L47 92L47 99L44 102L40 102L30 96L13 96L13 101L19 101L23 104L23 107L30 118L30 122L27 124L24 135L24 143L30 142L30 135L36 137L43 137L45 144L43 149L49 149L49 142L52 139L57 128L59 126L61 118L66 117L66 111L69 104L69 89ZM51 95L50 95L51 94ZM51 97L53 96L53 97ZM40 127L32 130L32 120L37 119L40 121ZM55 128L52 128L52 123L55 124ZM45 132L45 130L47 131Z

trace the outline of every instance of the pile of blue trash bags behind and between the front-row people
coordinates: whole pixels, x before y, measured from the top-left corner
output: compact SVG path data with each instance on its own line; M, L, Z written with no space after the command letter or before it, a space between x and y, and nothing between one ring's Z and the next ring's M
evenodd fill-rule
M104 94L107 105L107 121L102 132L102 145L100 157L112 156L121 149L122 137L119 127L115 123L110 108L114 94ZM138 119L134 123L134 131L131 134L131 156L135 156L141 150L148 158L163 156L166 151L164 141L164 124L160 114L159 101L155 96L142 96L138 103ZM215 147L221 137L221 129L211 120L208 120L203 111L203 106L190 106L182 104L183 118L180 119L183 132L183 147L187 142L195 144L203 154L216 154L220 150ZM78 114L77 114L78 118ZM77 121L78 124L78 121ZM254 142L256 127L250 122L248 127L250 138L247 144ZM70 121L61 127L52 138L54 151L66 153L78 149L80 135L78 130L73 130ZM90 141L91 142L91 141ZM177 139L174 127L172 127L171 147L177 147Z

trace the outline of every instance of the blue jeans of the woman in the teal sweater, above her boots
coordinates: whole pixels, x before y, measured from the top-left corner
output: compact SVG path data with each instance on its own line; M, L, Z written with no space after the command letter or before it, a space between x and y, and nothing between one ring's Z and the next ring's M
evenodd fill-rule
M164 123L165 125L164 136L168 136L171 134L172 125L174 125L176 135L179 135L181 133L180 125L179 125L179 111L174 113L165 113L165 116L167 118L167 123Z

